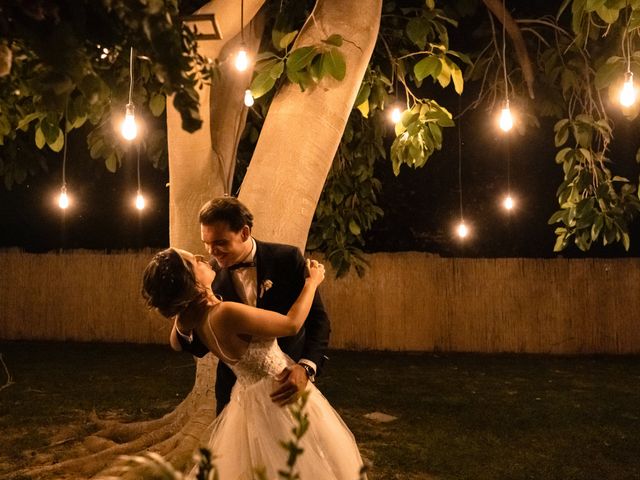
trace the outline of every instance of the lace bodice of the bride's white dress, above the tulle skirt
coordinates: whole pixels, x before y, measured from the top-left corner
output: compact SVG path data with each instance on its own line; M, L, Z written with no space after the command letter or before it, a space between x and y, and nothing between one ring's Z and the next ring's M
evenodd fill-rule
M274 377L289 365L290 360L275 338L251 340L249 347L236 363L227 363L242 385L251 385L265 377Z

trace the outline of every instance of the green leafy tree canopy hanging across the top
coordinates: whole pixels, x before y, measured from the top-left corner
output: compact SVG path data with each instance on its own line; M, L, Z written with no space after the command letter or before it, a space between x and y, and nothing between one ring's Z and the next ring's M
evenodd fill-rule
M351 266L364 271L364 234L383 215L376 168L390 163L397 175L403 167L424 166L442 148L447 129L460 121L438 100L463 95L470 83L478 93L465 102L469 108L495 111L508 98L521 113L520 134L554 119L549 135L564 175L558 210L549 219L557 225L554 250L571 242L584 251L594 242L620 242L629 249L640 179L617 175L608 155L616 127L612 111L620 108L617 91L625 72L636 78L640 73L640 0L565 0L559 8L537 6L534 14L517 19L511 3L523 2L506 2L501 15L495 0L384 3L378 44L309 237L308 247L324 251L339 274ZM126 103L131 45L133 97L147 125L142 146L163 168L165 131L153 118L162 119L165 98L171 97L183 128L199 128L198 90L216 73L217 60L197 53L196 32L180 21L197 6L176 0L5 2L0 175L6 188L46 170L52 161L47 152L60 152L74 130L86 137L91 158L118 169L127 146L114 124ZM245 163L280 85L312 90L325 78L340 81L348 68L340 52L348 38L327 32L318 45L296 43L312 18L312 2L273 2L267 8L250 87L256 104L239 153ZM398 106L403 113L392 128L386 116ZM637 104L625 108L626 121L636 121L639 110Z

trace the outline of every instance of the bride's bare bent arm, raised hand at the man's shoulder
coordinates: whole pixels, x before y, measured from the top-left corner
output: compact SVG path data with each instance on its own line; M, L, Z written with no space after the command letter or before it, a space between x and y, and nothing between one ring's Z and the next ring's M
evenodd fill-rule
M234 302L223 302L218 307L218 315L225 328L238 334L260 337L288 337L298 333L302 327L316 293L324 280L324 266L315 260L307 260L309 276L297 300L286 315L254 308Z

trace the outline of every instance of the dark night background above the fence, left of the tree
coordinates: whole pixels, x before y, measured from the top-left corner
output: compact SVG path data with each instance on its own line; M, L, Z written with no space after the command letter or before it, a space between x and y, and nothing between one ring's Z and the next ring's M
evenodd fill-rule
M73 151L70 146L67 159L67 184L73 204L66 212L57 206L61 159L50 163L48 174L29 177L24 184L14 185L12 191L0 187L1 247L43 252L137 249L169 243L168 172L141 162L147 208L139 213L133 206L135 160L124 162L112 174L101 161L77 158Z

